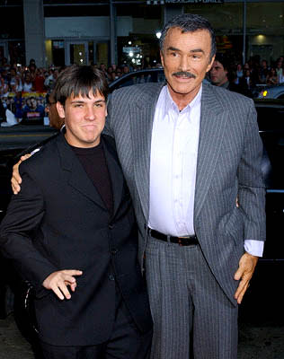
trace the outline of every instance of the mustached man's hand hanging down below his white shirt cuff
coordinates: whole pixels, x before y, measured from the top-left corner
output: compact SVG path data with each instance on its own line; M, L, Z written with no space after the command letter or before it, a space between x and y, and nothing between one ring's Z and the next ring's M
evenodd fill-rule
M235 292L235 299L238 304L241 304L243 300L244 293L246 292L250 280L252 279L257 261L258 257L255 257L247 252L244 253L239 261L239 267L234 276L235 280L241 280Z

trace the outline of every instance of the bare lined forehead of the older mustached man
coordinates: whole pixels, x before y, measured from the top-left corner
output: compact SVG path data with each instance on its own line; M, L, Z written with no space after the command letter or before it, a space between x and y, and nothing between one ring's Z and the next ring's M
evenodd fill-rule
M202 48L207 50L211 48L211 37L209 31L197 30L183 32L181 28L172 28L167 31L164 39L164 49L174 48Z

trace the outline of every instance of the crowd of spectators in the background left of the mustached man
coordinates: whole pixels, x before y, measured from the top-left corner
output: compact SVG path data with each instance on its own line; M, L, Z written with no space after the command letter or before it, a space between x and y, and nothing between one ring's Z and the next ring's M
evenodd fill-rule
M0 121L6 119L6 109L13 113L17 122L22 118L42 118L46 93L52 92L63 68L53 65L38 67L33 58L29 66L10 65L6 58L0 59ZM94 64L93 68L99 68L108 83L139 69L126 64L108 67Z

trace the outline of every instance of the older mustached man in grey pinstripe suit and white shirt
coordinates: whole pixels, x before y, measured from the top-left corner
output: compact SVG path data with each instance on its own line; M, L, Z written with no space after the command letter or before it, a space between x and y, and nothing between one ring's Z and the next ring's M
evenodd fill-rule
M195 359L235 359L237 304L265 239L256 112L202 84L216 52L204 18L177 16L160 41L167 84L113 92L107 124L138 217L153 358L189 358L192 329Z

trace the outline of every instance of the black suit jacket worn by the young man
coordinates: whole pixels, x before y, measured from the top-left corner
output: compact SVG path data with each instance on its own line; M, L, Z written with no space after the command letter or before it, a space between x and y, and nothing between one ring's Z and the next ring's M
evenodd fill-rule
M137 226L114 142L102 136L111 175L110 217L83 166L59 135L20 166L22 190L1 223L1 248L35 288L41 340L89 346L111 335L116 284L141 331L151 328L146 285L138 269ZM100 169L98 169L100 171ZM60 269L81 269L71 300L41 284ZM113 280L115 278L115 280Z

